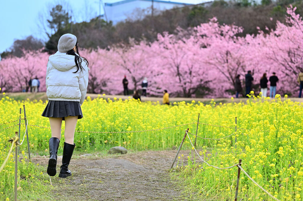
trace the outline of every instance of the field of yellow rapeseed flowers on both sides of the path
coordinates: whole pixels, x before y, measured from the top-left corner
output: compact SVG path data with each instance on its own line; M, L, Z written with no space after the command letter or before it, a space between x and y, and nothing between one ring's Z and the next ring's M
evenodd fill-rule
M124 146L132 151L165 150L178 147L186 128L196 132L195 123L200 113L198 136L202 138L228 138L209 140L197 138L196 149L209 164L229 167L242 159L243 169L263 188L280 200L301 200L303 197L303 104L292 102L280 95L275 99L251 96L246 102L205 105L201 102L178 102L171 106L157 102L138 102L89 97L82 105L84 118L80 119L78 131L125 131L124 133L76 132L76 151L102 151L112 146ZM5 160L11 144L8 139L18 131L19 108L26 107L28 123L49 127L48 118L41 116L47 103L42 101L15 101L4 97L0 101L0 165ZM235 117L237 131L235 132ZM23 110L22 110L23 118ZM24 123L24 120L22 121ZM158 131L142 131L187 124ZM208 125L210 124L210 125ZM223 127L213 126L220 125ZM228 128L230 127L230 128ZM64 124L62 124L64 129ZM25 131L21 126L21 136ZM32 153L47 155L50 129L28 126ZM62 131L64 135L64 131ZM195 136L190 135L191 141ZM237 141L235 142L235 138ZM61 147L64 140L61 140ZM202 163L185 139L182 149L191 150L188 158L179 156L172 177L184 180L189 192L198 194L200 200L233 200L235 196L238 167L218 170ZM60 152L61 151L61 152ZM62 150L59 150L59 154ZM21 162L18 164L18 196L30 200L32 194L47 192L49 179L45 168L27 159L27 144L20 147ZM173 159L172 159L173 160ZM185 162L187 161L187 162ZM14 152L0 172L0 200L13 199ZM188 192L187 192L188 193ZM189 198L190 199L190 198ZM238 200L273 200L241 172Z

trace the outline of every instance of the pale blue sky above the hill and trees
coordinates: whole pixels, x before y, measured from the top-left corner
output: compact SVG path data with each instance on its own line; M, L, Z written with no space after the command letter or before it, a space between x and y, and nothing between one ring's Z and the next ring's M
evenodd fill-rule
M105 3L118 1L103 0ZM195 4L203 2L203 0L171 1ZM56 3L65 4L65 7L73 12L73 21L88 20L99 13L98 0L3 0L0 5L0 53L11 47L15 39L33 35L45 40L46 35L41 28L39 14L47 13Z

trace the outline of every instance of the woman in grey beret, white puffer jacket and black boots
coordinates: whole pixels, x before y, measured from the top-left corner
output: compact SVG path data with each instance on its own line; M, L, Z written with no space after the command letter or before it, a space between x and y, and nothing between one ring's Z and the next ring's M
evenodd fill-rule
M46 70L48 104L42 116L49 118L52 130L47 167L49 176L56 174L62 120L65 121L65 142L59 177L72 175L68 165L75 148L74 134L77 120L83 117L81 105L86 96L88 71L88 61L79 55L76 36L62 35L58 42L58 51L48 58Z

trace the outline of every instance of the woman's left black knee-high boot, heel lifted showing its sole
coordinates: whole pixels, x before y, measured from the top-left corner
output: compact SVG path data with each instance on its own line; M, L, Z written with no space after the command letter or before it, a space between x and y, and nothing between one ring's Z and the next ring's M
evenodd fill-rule
M49 139L49 160L47 173L49 176L56 175L56 166L57 166L57 153L59 148L60 140L58 138Z

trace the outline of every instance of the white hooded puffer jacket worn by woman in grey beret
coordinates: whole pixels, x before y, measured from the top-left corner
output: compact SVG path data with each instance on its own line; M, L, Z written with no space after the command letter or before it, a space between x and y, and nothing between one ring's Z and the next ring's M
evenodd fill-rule
M46 95L48 100L84 102L88 85L88 71L84 59L83 69L77 70L75 56L56 52L49 56L46 71Z

